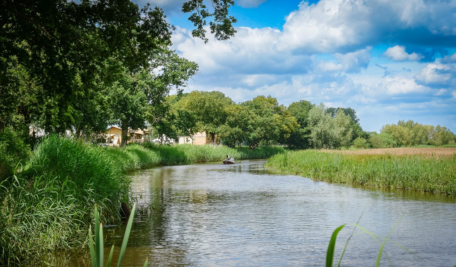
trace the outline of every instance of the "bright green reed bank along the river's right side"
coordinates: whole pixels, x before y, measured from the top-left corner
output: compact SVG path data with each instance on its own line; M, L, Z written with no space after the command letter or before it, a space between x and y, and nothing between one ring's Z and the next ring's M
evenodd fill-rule
M300 150L265 166L316 181L456 195L456 155L342 154Z

